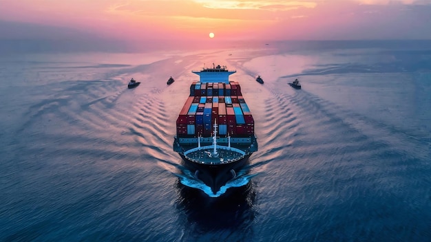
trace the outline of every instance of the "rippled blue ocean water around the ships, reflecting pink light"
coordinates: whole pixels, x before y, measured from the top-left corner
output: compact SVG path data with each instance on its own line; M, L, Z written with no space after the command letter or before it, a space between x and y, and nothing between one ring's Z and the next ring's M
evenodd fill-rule
M260 147L218 194L171 148L212 63ZM0 94L0 241L431 240L430 42L1 56Z

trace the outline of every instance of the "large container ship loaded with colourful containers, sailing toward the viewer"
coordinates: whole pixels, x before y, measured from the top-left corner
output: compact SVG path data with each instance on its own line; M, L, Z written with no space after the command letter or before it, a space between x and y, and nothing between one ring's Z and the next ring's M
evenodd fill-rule
M213 192L257 151L253 115L240 84L229 80L235 72L220 65L192 71L200 80L191 84L176 120L174 151Z

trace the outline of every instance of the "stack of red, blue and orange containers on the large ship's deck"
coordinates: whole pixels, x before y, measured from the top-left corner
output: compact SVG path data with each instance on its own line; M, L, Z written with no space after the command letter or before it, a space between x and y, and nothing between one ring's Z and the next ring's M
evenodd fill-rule
M254 135L254 120L241 94L238 82L193 82L190 96L178 115L178 137L209 137L213 124L218 124L220 137Z

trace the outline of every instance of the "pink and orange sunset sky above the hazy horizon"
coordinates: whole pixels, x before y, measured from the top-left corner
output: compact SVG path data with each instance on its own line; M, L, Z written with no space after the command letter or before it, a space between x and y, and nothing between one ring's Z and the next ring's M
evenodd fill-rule
M0 0L0 39L431 39L429 26L431 0Z

